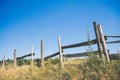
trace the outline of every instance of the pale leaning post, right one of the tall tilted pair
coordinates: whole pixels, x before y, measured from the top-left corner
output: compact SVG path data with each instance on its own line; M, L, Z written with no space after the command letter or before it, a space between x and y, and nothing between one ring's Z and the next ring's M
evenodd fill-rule
M110 62L109 53L108 53L108 50L107 50L106 41L105 41L105 37L104 37L101 25L98 25L98 28L99 28L99 32L100 32L101 44L102 44L102 47L103 47L104 54L106 55L107 61Z

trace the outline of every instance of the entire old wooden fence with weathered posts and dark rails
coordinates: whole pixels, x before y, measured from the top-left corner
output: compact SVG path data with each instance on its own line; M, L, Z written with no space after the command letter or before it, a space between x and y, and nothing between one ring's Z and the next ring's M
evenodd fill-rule
M120 40L107 42L107 38L120 38L120 36L104 35L101 25L97 24L96 22L93 22L93 26L94 26L95 36L96 36L95 39L90 40L90 41L88 40L88 41L81 42L81 43L75 43L75 44L63 46L63 45L61 45L60 36L59 36L58 37L59 51L56 53L53 53L51 55L48 55L46 57L44 57L44 42L43 42L43 40L41 40L41 66L44 67L44 60L47 60L49 58L52 58L52 57L59 55L60 67L64 68L63 57L64 58L71 58L71 57L81 57L81 56L88 55L88 52L63 54L64 49L83 47L83 46L89 46L89 45L94 45L94 44L97 44L98 50L92 51L92 53L98 53L99 56L103 59L103 61L110 62L110 56L115 56L115 54L109 54L109 51L107 49L106 44L120 43ZM16 50L14 50L14 67L16 66L17 60L23 59L23 58L28 57L28 56L32 56L31 59L33 62L34 55L35 55L35 53L33 52L32 46L31 46L31 53L24 55L24 56L21 56L21 57L16 57ZM3 58L3 66L4 66L4 58Z

